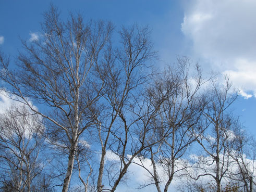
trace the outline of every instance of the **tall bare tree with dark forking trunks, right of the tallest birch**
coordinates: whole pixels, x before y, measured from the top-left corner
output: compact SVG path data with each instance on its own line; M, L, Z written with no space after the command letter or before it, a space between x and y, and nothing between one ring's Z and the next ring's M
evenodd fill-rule
M141 94L150 80L151 59L155 57L149 28L123 27L119 35L120 46L116 50L108 49L111 57L108 65L103 66L108 73L102 76L105 86L101 105L92 108L101 147L97 191L115 191L132 159L150 145L145 135L150 132L150 120L157 110L150 109L145 104L147 101L143 103ZM115 165L108 161L106 166L107 152L119 159ZM105 179L104 175L107 175Z

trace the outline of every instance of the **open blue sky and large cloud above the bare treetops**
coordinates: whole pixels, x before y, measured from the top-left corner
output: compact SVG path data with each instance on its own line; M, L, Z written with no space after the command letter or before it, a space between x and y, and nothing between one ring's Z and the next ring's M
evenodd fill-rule
M36 37L42 14L51 2L64 18L72 11L88 19L110 20L116 27L135 22L149 25L161 59L159 67L175 62L176 56L181 55L199 61L204 70L229 74L234 87L241 89L234 112L256 135L254 0L0 0L0 47L5 53L17 54L20 39Z

